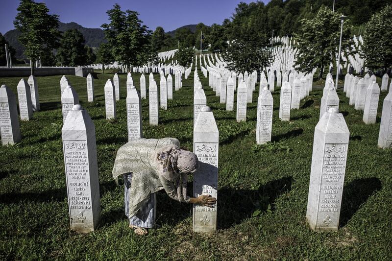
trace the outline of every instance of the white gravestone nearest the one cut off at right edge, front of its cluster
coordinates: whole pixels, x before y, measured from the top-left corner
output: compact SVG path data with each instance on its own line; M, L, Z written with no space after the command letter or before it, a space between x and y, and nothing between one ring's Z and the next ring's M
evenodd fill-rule
M376 123L378 98L380 97L380 88L376 82L372 82L366 90L366 99L364 107L363 120L366 124Z

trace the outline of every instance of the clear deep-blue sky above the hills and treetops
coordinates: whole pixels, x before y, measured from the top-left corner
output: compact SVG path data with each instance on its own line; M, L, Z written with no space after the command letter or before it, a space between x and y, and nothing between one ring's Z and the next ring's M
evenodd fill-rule
M221 24L231 17L240 1L252 0L36 0L45 2L51 14L59 15L63 23L75 22L84 27L98 28L107 23L106 11L113 4L120 4L122 10L130 9L140 13L139 18L151 30L162 26L165 31L174 30L187 24ZM256 0L253 0L256 1ZM270 0L263 0L267 3ZM0 32L14 29L19 0L1 0Z

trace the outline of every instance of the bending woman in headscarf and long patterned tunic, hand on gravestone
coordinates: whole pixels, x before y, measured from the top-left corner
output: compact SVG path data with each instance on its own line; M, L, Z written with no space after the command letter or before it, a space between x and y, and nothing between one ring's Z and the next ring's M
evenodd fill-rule
M197 170L197 156L179 149L177 139L137 139L117 152L113 178L124 180L125 215L129 227L138 235L146 235L155 223L156 192L164 189L174 200L213 207L216 198L187 196L187 174Z

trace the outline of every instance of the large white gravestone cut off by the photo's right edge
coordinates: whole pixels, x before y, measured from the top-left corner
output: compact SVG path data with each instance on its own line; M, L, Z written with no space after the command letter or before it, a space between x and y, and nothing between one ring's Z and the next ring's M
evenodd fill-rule
M392 93L383 102L378 146L383 149L392 148Z

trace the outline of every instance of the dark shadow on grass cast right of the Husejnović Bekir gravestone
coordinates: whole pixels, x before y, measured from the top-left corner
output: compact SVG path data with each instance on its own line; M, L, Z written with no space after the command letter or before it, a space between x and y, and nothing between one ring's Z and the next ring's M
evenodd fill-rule
M344 227L361 205L378 190L381 190L381 181L375 177L355 179L344 186L339 226Z

